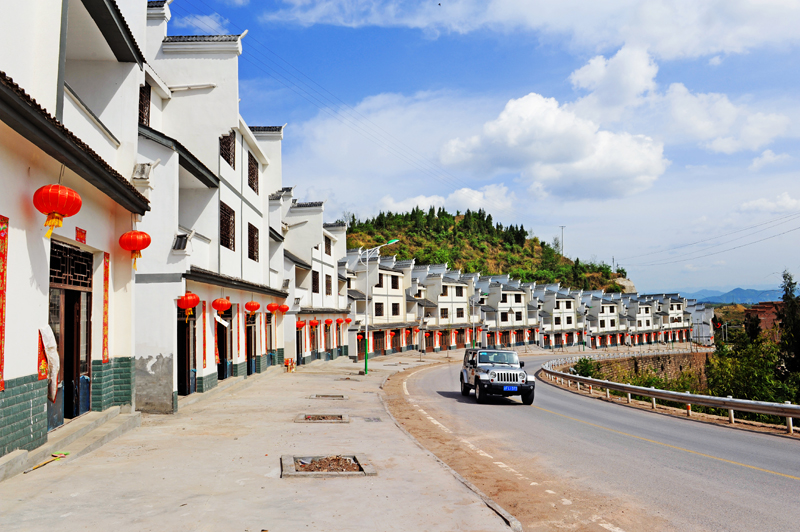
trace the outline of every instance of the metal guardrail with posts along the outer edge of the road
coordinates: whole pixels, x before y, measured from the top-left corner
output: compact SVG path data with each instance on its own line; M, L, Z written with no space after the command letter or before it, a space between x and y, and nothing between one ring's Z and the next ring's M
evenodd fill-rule
M674 355L686 354L690 351L664 351L658 353L644 353L639 356L658 356L658 355ZM694 351L692 351L694 352ZM713 352L711 350L700 350L699 352ZM594 355L587 357L566 357L549 360L542 365L542 372L550 379L560 381L562 384L567 383L571 387L574 381L580 390L581 384L589 386L589 393L592 393L593 387L604 388L606 390L606 397L609 397L609 391L614 390L617 392L626 393L628 396L628 403L631 402L631 395L640 395L652 399L653 409L656 408L656 399L664 401L673 401L676 403L683 403L686 405L686 415L692 415L692 405L708 406L712 408L727 408L728 419L731 423L735 422L734 412L752 412L755 414L767 414L772 416L779 416L786 418L786 431L789 434L794 432L792 418L800 418L800 405L793 405L789 401L786 403L767 403L764 401L749 401L747 399L734 399L728 397L715 397L713 395L696 395L689 392L673 392L669 390L660 390L657 388L645 388L643 386L632 386L630 384L621 384L618 382L611 382L607 380L592 379L590 377L581 377L580 375L572 375L553 369L554 367L572 365L578 362L581 358L590 358L592 360L612 360L633 358L637 356L631 353L614 353L609 355Z

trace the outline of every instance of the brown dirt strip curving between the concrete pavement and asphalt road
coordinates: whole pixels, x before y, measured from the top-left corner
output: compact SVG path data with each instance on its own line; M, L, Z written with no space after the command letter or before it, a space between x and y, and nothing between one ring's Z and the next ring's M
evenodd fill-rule
M509 452L507 442L480 433L442 430L404 395L403 382L419 370L395 375L386 382L384 393L390 412L423 446L510 512L525 530L670 529L663 518L628 501L577 487L565 480L566 474L554 474L535 458L521 460ZM457 426L444 417L440 421Z

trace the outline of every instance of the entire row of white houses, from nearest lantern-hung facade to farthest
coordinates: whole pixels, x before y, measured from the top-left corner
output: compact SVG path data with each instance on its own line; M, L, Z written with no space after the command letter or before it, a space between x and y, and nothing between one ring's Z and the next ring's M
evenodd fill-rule
M710 322L676 294L365 261L284 185L285 126L240 113L246 32L171 34L170 1L28 0L0 20L0 455L288 360L685 341Z

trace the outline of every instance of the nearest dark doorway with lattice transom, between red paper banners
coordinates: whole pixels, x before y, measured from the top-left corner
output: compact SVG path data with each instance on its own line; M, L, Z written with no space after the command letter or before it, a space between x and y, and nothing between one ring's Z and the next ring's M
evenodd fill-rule
M56 400L47 402L48 430L91 408L93 273L92 253L57 240L50 242L48 321L61 367Z

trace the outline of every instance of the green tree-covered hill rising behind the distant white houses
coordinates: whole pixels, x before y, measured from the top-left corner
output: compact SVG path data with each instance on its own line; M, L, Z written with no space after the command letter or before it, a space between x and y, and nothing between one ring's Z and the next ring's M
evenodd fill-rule
M604 289L622 292L615 279L624 278L622 268L611 271L605 263L570 260L559 253L560 243L542 242L520 225L495 224L483 209L451 214L431 207L408 213L383 213L361 221L345 215L347 247L373 247L393 238L399 243L385 252L399 260L416 259L418 264L447 263L464 273L483 275L508 273L523 282L560 282L576 289Z

